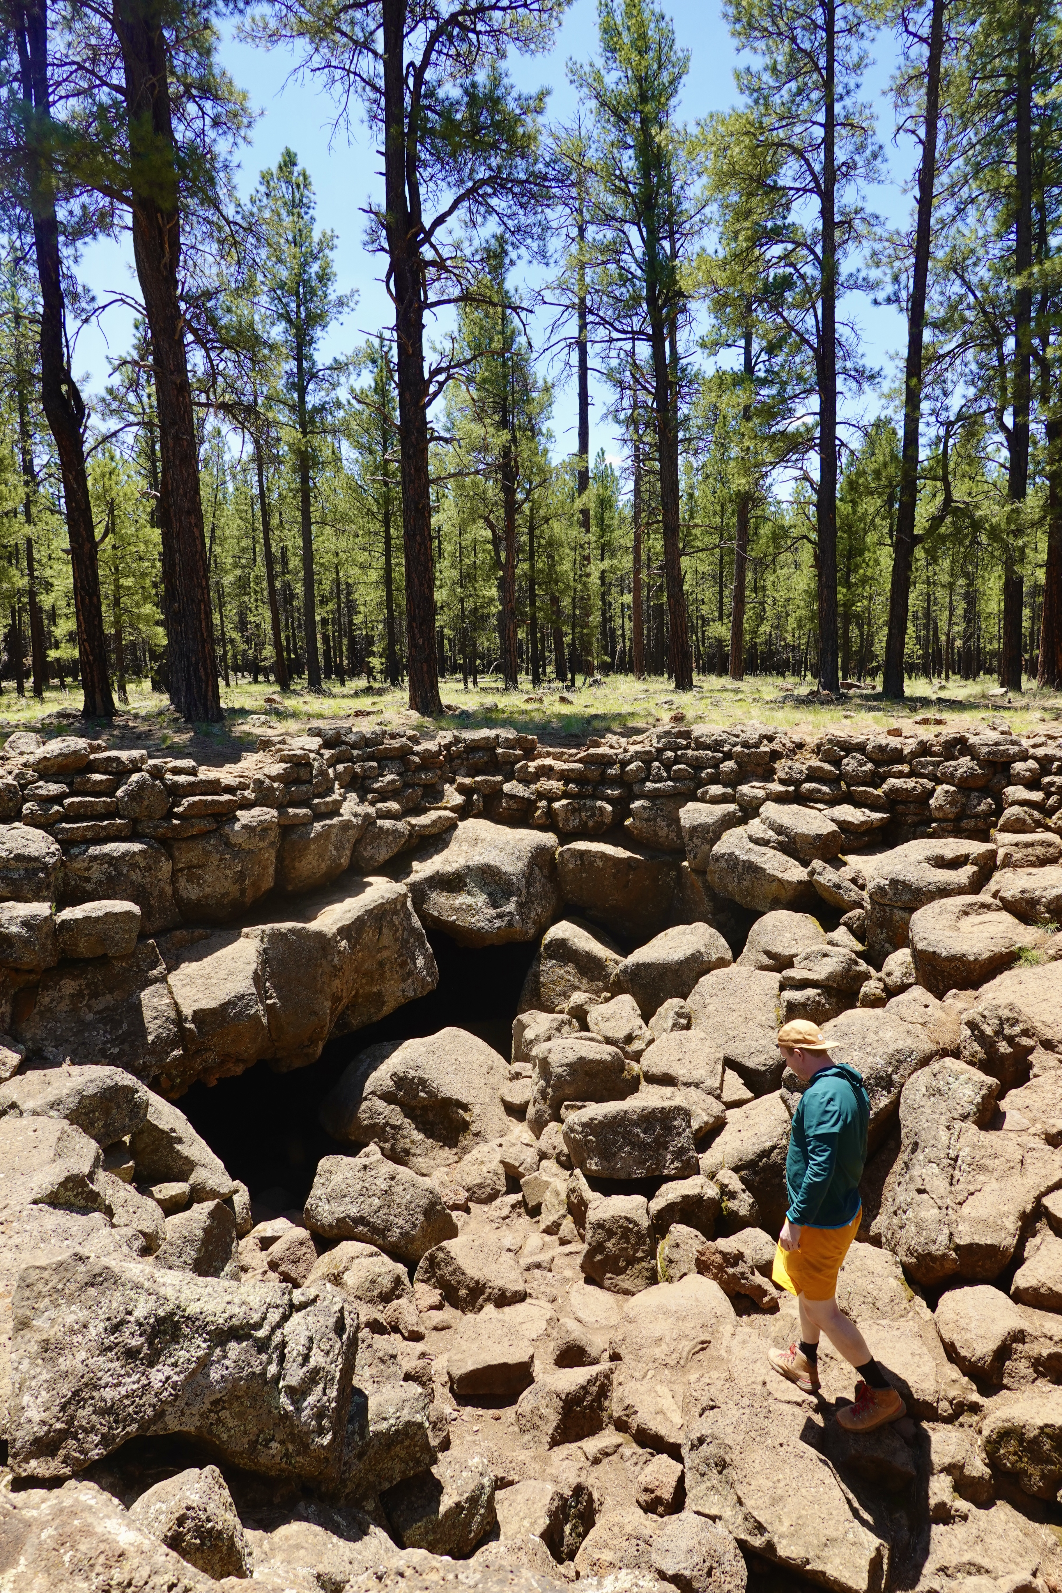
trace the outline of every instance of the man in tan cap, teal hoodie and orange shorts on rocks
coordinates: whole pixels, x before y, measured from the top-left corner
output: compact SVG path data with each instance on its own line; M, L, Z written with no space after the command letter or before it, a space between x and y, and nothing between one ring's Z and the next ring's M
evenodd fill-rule
M818 1389L818 1337L858 1373L855 1403L837 1411L849 1432L873 1432L908 1407L834 1298L837 1273L858 1233L860 1179L866 1164L871 1106L853 1067L834 1063L817 1024L798 1018L779 1031L779 1050L807 1088L793 1115L785 1158L788 1211L774 1254L775 1284L796 1295L799 1343L771 1349L769 1360L807 1394Z

